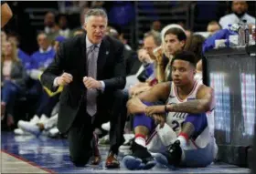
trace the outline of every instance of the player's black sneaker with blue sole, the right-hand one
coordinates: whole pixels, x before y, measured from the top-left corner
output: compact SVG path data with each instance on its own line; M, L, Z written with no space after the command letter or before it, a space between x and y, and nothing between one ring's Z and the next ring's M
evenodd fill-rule
M181 162L181 156L182 148L180 148L180 141L176 140L165 152L157 153L155 160L167 168L175 169Z

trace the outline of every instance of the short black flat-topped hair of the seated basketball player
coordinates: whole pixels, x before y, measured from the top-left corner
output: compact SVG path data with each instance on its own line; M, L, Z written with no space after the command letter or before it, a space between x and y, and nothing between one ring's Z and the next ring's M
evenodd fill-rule
M189 62L193 67L197 67L197 59L194 53L190 51L177 51L174 58L171 61L171 67L175 60L184 60Z

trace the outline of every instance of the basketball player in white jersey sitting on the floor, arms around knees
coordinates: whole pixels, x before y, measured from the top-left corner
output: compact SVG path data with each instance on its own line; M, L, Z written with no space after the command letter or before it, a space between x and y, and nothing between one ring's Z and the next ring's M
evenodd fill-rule
M135 133L133 154L123 158L127 169L151 169L156 161L167 167L206 167L215 158L213 89L194 79L192 53L177 53L171 68L173 82L157 84L127 103Z

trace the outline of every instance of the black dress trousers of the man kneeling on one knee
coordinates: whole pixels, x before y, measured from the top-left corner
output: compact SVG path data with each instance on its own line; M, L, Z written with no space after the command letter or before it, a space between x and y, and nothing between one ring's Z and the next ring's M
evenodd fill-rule
M86 112L85 104L81 104L77 118L68 132L70 159L76 166L84 166L92 155L91 141L94 128L110 121L110 150L117 154L123 144L123 129L126 121L126 102L128 96L121 90L106 93L99 97L97 114L92 120Z

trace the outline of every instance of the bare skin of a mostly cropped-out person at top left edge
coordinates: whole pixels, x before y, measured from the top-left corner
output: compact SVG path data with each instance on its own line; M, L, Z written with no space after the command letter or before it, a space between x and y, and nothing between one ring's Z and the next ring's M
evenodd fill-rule
M10 6L5 1L1 1L1 28L7 24L12 16L13 12Z

